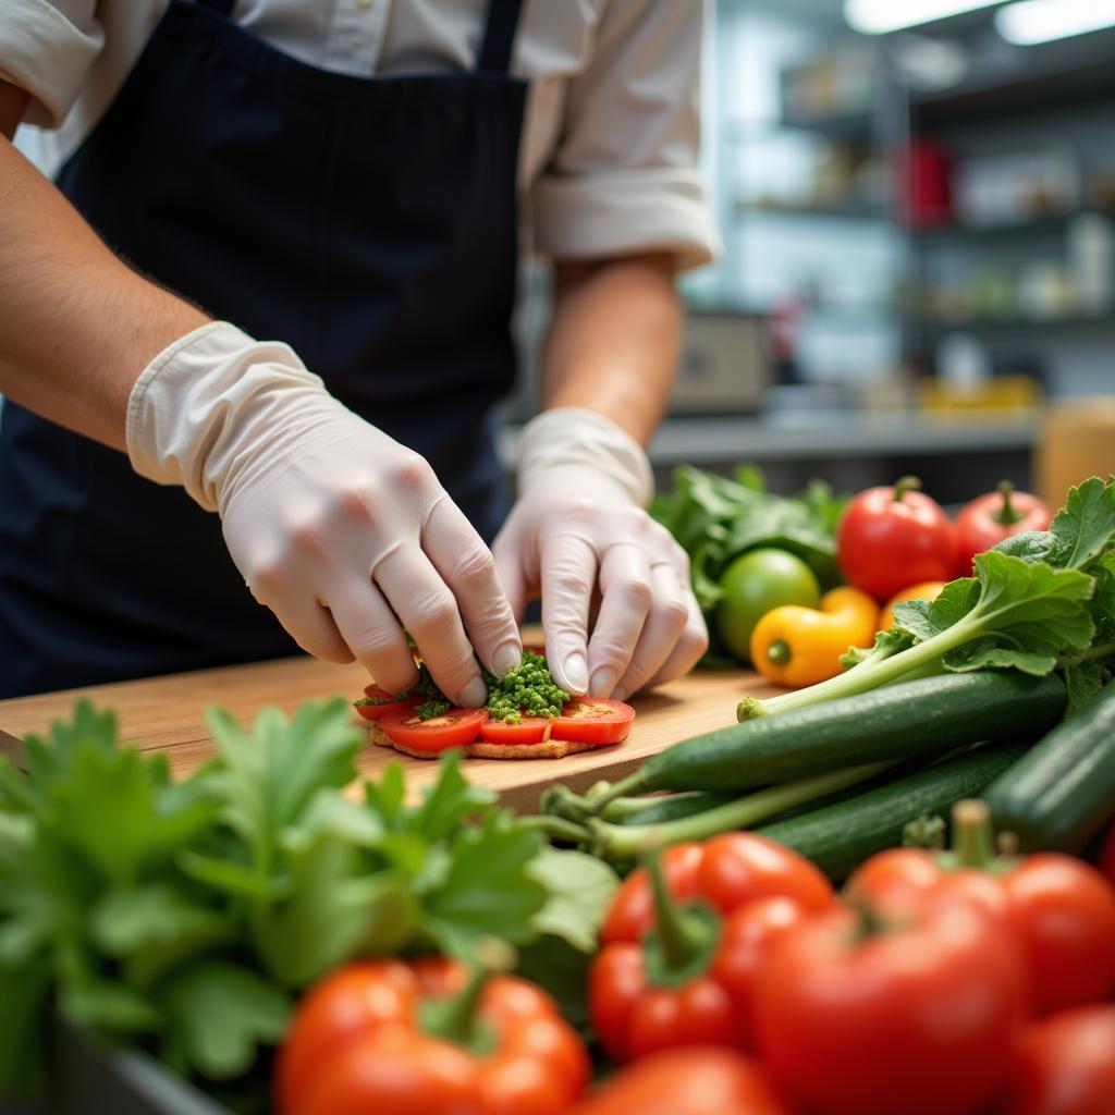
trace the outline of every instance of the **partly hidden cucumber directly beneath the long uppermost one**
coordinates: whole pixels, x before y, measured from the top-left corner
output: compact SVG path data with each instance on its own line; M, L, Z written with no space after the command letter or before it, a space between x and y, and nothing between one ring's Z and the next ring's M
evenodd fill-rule
M755 831L841 880L869 856L901 844L909 822L924 813L948 817L956 802L978 795L1029 746L1026 739L975 747L847 801Z

